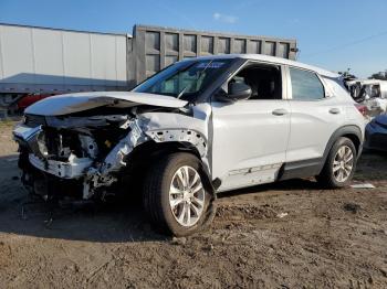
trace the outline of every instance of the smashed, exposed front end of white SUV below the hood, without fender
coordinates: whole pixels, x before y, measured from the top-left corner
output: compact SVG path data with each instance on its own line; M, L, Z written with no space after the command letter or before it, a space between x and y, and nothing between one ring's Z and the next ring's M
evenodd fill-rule
M13 131L23 184L44 197L72 184L66 191L91 199L117 181L125 156L146 140L137 121L128 115L27 115Z

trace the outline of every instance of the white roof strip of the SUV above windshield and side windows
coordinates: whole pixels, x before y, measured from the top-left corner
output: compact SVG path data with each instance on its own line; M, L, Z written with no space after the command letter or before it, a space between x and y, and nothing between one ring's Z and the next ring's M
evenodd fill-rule
M320 75L331 77L331 78L336 78L336 77L341 76L339 74L337 74L335 72L330 72L330 71L326 71L324 68L320 68L317 66L313 66L313 65L308 65L308 64L304 64L301 62L291 61L291 60L286 60L286 58L263 55L263 54L222 54L222 55L200 56L198 58L200 58L200 60L206 60L206 58L207 60L245 58L245 60L254 60L254 61L262 61L262 62L295 66L295 67L300 67L303 69L314 71L314 72L318 73Z

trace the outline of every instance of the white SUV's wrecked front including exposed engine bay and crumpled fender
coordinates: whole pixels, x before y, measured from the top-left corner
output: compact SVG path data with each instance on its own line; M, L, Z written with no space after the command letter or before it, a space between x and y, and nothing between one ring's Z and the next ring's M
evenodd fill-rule
M149 105L103 106L57 116L27 113L13 131L22 182L44 199L69 192L83 200L104 199L140 174L150 154L158 151L153 146L167 142L194 149L208 164L206 114L199 114L203 119L194 114L187 108ZM138 148L142 153L133 153Z

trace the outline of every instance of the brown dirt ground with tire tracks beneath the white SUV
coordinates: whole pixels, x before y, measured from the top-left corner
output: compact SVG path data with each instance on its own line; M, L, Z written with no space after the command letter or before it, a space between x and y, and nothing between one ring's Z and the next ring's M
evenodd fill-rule
M233 191L210 231L171 239L138 202L50 214L20 185L11 128L0 125L0 288L387 288L387 156L359 161L355 182L376 189Z

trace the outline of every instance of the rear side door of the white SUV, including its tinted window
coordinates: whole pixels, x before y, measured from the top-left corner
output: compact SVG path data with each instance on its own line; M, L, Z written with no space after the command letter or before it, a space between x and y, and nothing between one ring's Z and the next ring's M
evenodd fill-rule
M286 67L291 133L286 162L318 162L345 111L324 81L313 71ZM305 163L306 163L305 162Z

